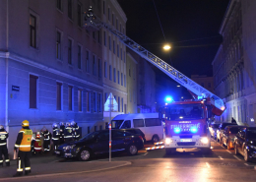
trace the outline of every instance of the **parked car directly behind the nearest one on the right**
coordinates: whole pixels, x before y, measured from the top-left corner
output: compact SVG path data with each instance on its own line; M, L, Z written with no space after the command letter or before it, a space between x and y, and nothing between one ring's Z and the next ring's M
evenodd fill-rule
M234 142L235 135L242 128L246 128L246 126L229 125L224 128L224 134L223 134L221 144L223 144L223 146L226 146L227 150L233 149L233 142Z

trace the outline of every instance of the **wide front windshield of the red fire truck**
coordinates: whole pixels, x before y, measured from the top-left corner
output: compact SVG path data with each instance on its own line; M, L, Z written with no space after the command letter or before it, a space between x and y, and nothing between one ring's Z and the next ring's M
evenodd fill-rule
M194 120L203 119L203 104L172 104L165 107L165 116L167 120Z

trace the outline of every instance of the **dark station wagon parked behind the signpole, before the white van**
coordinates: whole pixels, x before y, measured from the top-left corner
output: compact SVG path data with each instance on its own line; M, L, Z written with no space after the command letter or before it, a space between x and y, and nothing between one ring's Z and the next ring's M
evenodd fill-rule
M143 138L124 130L111 131L111 152L137 154L143 149ZM109 152L109 130L96 131L86 135L80 141L64 144L55 152L61 157L77 157L89 160L93 155Z

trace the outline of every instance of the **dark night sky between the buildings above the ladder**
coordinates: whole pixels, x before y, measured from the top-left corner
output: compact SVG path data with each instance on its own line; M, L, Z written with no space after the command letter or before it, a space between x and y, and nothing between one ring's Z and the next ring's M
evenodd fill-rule
M160 22L154 6L159 13ZM212 61L229 0L118 0L128 19L126 34L190 78L213 75ZM162 50L171 42L170 53Z

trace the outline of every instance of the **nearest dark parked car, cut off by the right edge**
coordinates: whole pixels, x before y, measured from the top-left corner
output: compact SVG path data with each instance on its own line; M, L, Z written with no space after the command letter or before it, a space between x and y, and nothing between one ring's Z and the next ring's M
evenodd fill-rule
M242 154L245 161L256 158L256 127L241 129L234 140L234 153Z

